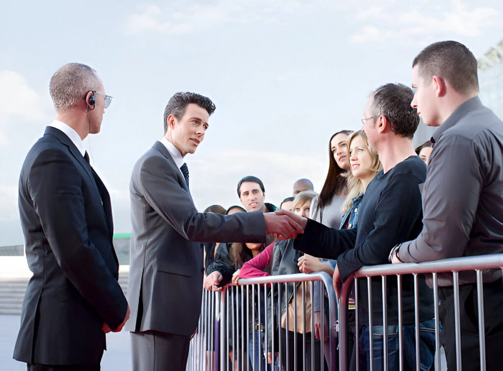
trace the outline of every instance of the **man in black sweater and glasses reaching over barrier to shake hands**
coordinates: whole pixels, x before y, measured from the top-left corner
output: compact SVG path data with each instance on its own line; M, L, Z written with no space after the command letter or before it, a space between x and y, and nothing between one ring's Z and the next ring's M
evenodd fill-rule
M358 227L336 230L314 220L304 221L305 232L295 240L295 249L317 257L337 259L333 273L336 290L353 272L364 265L388 263L391 249L415 238L422 229L422 202L419 185L426 179L426 165L416 156L412 136L419 123L410 107L412 91L401 84L387 84L369 98L363 131L379 155L383 170L370 182L358 211ZM356 167L359 164L352 163ZM373 333L383 334L381 278L372 279ZM421 327L434 328L433 291L424 276L419 277L419 315ZM397 280L388 277L388 367L399 368L398 359L398 292ZM370 344L367 308L367 281L359 281L360 369L370 367ZM404 369L415 369L414 285L412 276L402 278ZM421 331L421 369L433 362L435 336ZM378 339L378 340L377 340ZM382 336L374 335L374 369L383 367Z

